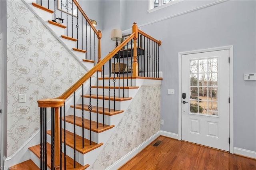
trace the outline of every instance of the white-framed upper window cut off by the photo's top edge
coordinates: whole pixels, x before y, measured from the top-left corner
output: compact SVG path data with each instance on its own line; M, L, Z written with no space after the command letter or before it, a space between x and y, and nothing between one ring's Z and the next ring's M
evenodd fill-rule
M149 0L148 12L153 12L181 1L182 0Z

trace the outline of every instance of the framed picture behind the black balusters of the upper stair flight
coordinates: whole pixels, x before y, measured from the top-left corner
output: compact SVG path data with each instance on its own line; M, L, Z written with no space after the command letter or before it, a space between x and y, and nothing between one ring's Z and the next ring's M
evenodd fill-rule
M78 2L78 0L76 0ZM68 12L68 14L77 17L77 6L72 3L72 0L58 0L58 10Z

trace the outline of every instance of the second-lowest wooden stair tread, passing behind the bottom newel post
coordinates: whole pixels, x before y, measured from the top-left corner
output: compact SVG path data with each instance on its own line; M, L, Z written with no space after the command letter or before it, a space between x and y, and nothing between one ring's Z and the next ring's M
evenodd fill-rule
M40 159L40 144L36 146L32 146L28 148L31 150L39 159ZM47 150L47 166L51 169L51 145L47 143L46 145ZM84 170L88 168L89 165L86 164L85 166L82 166L78 162L76 162L76 168L74 168L74 160L70 158L68 155L66 155L66 169L67 170ZM64 153L62 153L62 169L64 169Z

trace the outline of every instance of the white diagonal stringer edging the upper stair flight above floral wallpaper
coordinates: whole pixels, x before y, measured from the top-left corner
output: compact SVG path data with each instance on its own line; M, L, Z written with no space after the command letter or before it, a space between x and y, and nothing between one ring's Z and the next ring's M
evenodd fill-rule
M46 23L46 21L44 21L40 15L38 15L38 13L34 10L34 7L32 6L32 4L28 4L28 2L26 2L26 0L21 0L26 7L28 7L28 9L38 18L38 20L40 20L40 22L42 22L42 24L52 33L52 35L65 47L65 49L78 61L78 63L80 63L82 65L82 67L84 67L84 69L88 72L90 69L88 69L86 67L86 65L84 65L84 63L74 54L74 52L66 45L66 43L64 43L62 41L62 39L54 32L54 30L52 30L52 28ZM95 76L95 74L93 75Z

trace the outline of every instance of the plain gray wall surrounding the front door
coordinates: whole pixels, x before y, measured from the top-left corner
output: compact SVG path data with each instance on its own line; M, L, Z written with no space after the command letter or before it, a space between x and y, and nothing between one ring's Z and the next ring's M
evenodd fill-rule
M129 29L134 21L140 26L211 2L183 1L148 13L148 1L126 1L125 8L133 11L126 15L127 22L121 28ZM234 45L234 147L256 151L256 82L244 81L244 73L256 73L255 9L255 1L226 1L141 27L162 41L161 130L178 133L178 52ZM167 95L167 89L175 89L175 95Z

